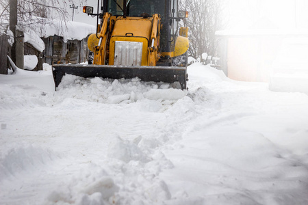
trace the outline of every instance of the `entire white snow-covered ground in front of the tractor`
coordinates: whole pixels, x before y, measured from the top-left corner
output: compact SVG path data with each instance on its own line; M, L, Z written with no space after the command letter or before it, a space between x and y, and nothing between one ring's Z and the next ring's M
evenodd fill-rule
M0 204L308 204L307 94L45 70L0 75Z

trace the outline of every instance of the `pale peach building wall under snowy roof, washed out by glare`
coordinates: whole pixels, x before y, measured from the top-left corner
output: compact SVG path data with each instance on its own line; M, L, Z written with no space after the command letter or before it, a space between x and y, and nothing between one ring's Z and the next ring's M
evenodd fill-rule
M226 40L227 39L227 40ZM268 82L283 36L230 36L222 44L222 70L237 81ZM227 68L226 68L227 67ZM225 71L227 70L227 71Z

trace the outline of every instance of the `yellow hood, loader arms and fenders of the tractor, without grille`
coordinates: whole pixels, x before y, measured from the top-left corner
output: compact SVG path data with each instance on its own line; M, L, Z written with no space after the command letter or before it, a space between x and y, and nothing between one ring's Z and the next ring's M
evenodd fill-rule
M117 41L142 42L141 66L156 66L161 56L176 57L188 50L188 28L180 29L180 36L173 44L174 51L159 52L159 33L162 27L159 14L152 17L112 16L105 13L98 34L88 38L88 47L94 53L93 64L114 65L114 53ZM98 37L98 38L97 38Z

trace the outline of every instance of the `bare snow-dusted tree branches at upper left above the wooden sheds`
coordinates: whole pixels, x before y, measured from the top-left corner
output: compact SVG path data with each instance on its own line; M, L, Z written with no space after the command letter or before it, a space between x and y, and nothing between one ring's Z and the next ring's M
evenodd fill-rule
M86 3L87 0L75 0ZM51 18L68 20L66 7L73 0L1 0L0 1L0 36L10 36L16 42L16 26L19 28L34 29L37 25L51 23ZM14 19L14 20L12 20ZM42 29L42 28L41 28ZM12 59L15 62L15 44L12 44ZM1 53L6 55L6 53Z

